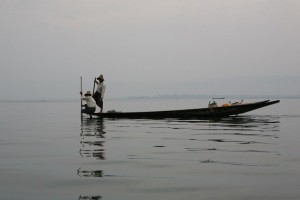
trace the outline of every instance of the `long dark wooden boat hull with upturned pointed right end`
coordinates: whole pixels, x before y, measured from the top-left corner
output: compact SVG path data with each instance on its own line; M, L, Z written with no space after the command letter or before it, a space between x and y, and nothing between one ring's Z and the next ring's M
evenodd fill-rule
M210 108L150 112L107 112L92 113L91 115L100 118L218 118L242 114L279 102L279 100L266 100L255 103L233 104Z

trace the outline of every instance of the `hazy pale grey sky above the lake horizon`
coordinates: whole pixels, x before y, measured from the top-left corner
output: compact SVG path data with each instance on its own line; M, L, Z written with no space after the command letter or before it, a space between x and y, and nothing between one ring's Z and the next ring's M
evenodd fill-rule
M0 100L300 94L299 0L0 0Z

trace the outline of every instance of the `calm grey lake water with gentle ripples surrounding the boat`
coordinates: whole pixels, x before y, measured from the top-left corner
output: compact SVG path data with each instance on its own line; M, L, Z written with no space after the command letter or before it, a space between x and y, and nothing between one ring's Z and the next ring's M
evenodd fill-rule
M208 101L106 100L105 110ZM219 120L81 120L79 102L0 102L0 199L298 200L299 124L299 99Z

